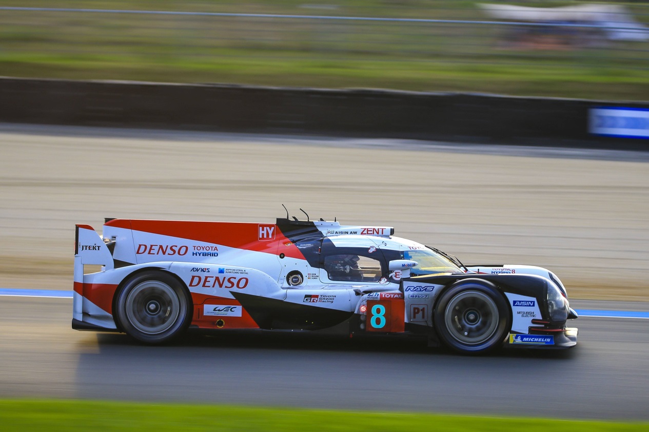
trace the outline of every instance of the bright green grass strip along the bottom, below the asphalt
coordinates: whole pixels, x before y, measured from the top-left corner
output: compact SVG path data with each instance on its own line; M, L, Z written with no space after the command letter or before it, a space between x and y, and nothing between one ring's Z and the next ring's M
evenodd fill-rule
M512 409L520 412L521 409ZM641 422L495 418L415 413L171 403L0 400L5 431L644 431Z

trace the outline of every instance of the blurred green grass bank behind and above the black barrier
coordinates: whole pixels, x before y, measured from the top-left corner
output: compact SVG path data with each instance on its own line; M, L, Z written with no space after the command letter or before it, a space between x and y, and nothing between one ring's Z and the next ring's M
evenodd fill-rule
M0 6L20 4L0 0ZM29 6L489 19L476 3L459 0L34 0ZM635 19L649 21L649 3L627 6ZM530 47L511 45L511 37L508 28L487 25L1 11L0 75L649 100L649 42Z

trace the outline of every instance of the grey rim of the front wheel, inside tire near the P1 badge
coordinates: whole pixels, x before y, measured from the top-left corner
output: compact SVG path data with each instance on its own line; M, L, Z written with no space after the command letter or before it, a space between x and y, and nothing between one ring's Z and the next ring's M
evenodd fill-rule
M457 341L482 344L498 328L498 306L487 294L465 291L448 302L444 320L448 333Z

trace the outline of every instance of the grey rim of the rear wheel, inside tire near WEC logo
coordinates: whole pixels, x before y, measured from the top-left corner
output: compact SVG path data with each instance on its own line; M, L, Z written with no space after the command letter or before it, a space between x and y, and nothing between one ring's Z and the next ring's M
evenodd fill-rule
M174 289L156 280L136 285L126 298L125 308L130 324L147 335L169 330L182 310Z

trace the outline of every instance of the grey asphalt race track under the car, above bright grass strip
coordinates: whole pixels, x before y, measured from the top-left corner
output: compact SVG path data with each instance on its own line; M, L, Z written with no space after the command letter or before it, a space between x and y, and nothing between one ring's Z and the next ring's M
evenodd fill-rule
M647 319L579 318L570 350L463 357L413 341L295 334L141 346L126 335L71 330L71 306L66 298L0 298L1 398L649 420Z

